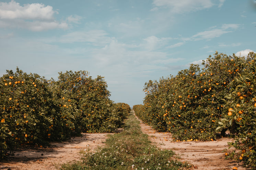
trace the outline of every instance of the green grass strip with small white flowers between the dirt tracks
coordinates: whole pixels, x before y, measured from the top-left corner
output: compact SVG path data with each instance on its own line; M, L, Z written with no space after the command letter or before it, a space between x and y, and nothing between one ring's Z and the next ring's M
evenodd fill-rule
M123 132L109 134L105 147L94 152L82 151L82 161L63 164L60 170L181 170L191 167L187 162L177 160L173 151L151 145L139 124L130 114Z

